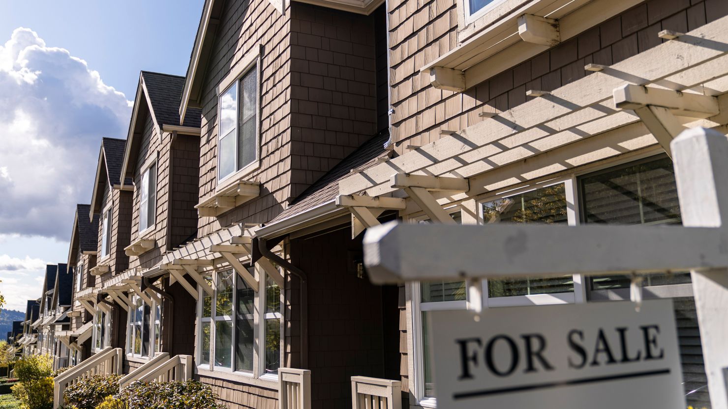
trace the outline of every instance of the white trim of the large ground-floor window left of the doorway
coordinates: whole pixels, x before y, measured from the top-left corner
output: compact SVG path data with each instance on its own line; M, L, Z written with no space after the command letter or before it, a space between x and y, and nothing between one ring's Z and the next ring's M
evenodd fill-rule
M216 280L217 280L217 274L218 272L223 272L227 270L233 271L233 308L237 305L237 280L242 280L240 278L240 275L238 275L236 272L234 272L234 269L232 266L224 266L216 268L215 270L210 270L210 272L206 272L206 274L210 274L211 277L213 277L213 281L210 283L210 286L213 287L215 290L215 296L217 295L217 286L216 286ZM212 311L210 317L202 317L202 308L204 307L205 301L204 297L207 296L207 293L202 291L202 288L198 289L198 302L197 302L197 336L195 339L195 364L197 365L197 370L199 373L207 373L210 376L223 376L226 378L234 378L237 381L242 381L248 384L253 384L257 386L266 386L270 387L272 385L277 385L278 376L267 374L265 373L265 342L261 341L262 337L265 334L265 318L267 315L277 315L277 318L280 319L280 357L279 362L282 363L282 355L285 353L285 350L282 347L285 333L283 332L284 328L284 320L283 320L283 313L282 309L285 306L285 299L284 294L285 291L283 288L280 289L280 306L281 306L281 312L278 313L269 313L266 314L263 312L265 308L265 293L266 293L266 274L263 270L261 270L259 267L255 267L255 277L256 280L258 280L258 291L256 291L254 298L253 298L253 308L256 314L253 315L253 339L255 340L256 347L253 348L253 371L252 372L243 372L240 370L234 370L235 367L235 342L237 341L235 339L235 324L236 319L233 315L232 317L232 323L233 323L233 344L232 344L232 357L231 357L231 367L232 368L224 368L220 366L215 366L215 336L216 331L214 329L214 323L215 323L215 296L213 296L211 302L212 302ZM233 310L235 314L235 310ZM210 323L210 363L202 363L202 323Z

